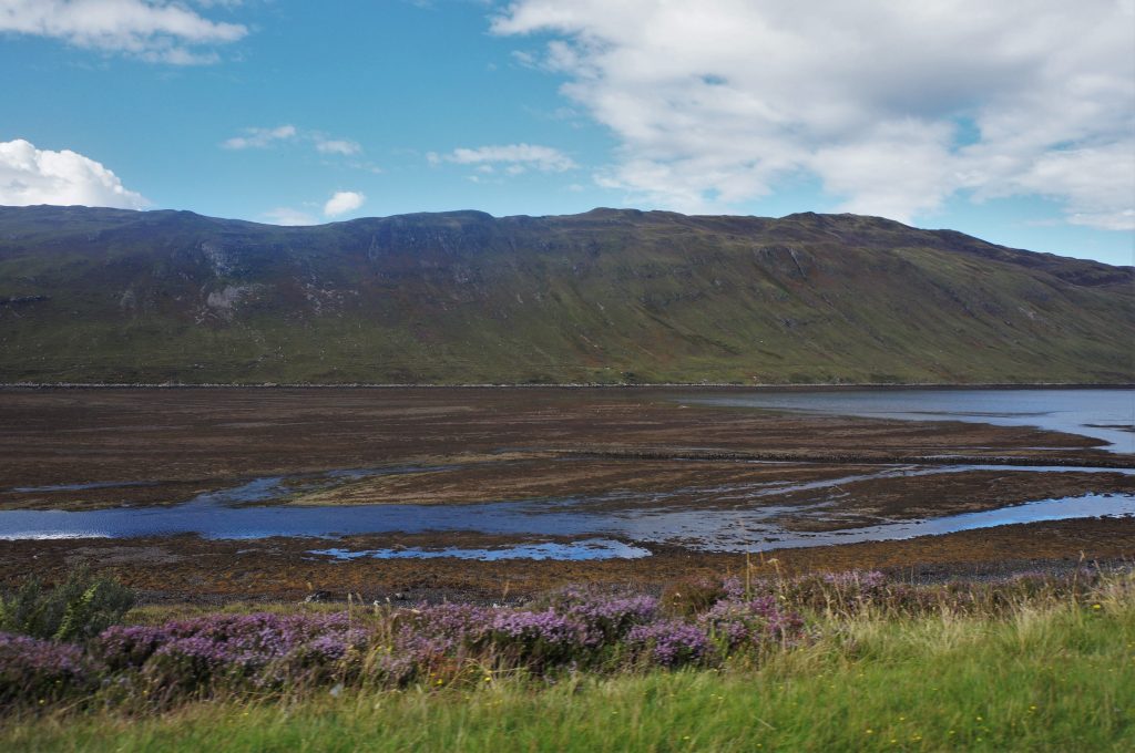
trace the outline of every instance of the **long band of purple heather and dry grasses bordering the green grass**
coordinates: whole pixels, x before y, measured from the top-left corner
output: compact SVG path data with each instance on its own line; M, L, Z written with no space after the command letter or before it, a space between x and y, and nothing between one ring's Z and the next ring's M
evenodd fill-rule
M691 593L690 583L678 586L675 597ZM1101 583L1112 595L1101 595ZM872 610L873 619L931 609L993 617L1068 597L1073 603L1092 599L1094 609L1103 609L1100 602L1129 599L1132 583L1077 573L1063 579L1041 574L1007 583L905 585L874 573L852 573L758 581L745 590L735 579L696 582L696 600L723 595L689 619L661 618L658 601L648 595L585 586L556 592L536 609L439 604L376 610L365 628L339 612L211 615L159 626L119 625L85 643L0 633L0 707L45 704L69 694L81 703L93 697L153 709L218 692L269 697L352 684L479 685L495 669L554 678L560 668L609 672L734 658L743 663L801 642L805 625L796 609L818 620L809 634L822 635L841 631L860 609ZM32 589L26 593L34 595ZM32 595L9 603L48 603L42 592ZM686 599L675 602L689 608Z

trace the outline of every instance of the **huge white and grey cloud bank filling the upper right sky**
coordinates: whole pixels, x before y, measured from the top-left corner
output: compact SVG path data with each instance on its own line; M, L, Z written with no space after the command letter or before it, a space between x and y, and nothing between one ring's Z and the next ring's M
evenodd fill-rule
M526 59L616 136L596 179L636 202L728 209L814 176L900 220L1039 194L1132 229L1133 24L1129 0L516 0L493 31L552 37Z

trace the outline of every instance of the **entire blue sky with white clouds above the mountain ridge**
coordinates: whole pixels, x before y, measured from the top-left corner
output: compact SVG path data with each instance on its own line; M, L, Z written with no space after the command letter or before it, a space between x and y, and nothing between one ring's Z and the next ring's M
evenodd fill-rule
M0 0L0 204L856 212L1135 263L1135 0Z

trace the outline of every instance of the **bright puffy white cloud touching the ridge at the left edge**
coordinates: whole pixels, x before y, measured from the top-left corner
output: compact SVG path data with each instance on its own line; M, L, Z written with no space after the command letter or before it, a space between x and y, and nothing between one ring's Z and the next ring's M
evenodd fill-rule
M0 142L0 204L143 209L149 202L127 191L118 176L100 162L69 150L39 150L17 138Z

